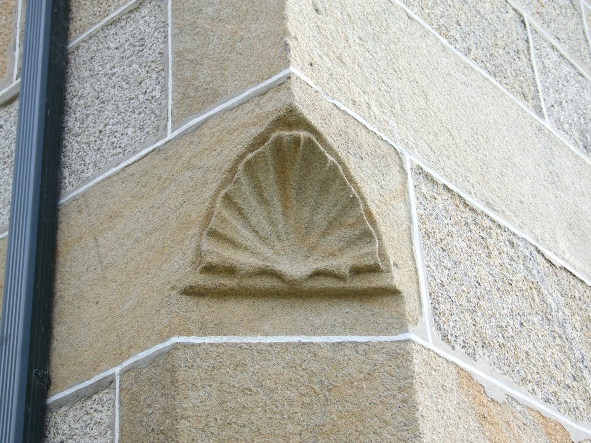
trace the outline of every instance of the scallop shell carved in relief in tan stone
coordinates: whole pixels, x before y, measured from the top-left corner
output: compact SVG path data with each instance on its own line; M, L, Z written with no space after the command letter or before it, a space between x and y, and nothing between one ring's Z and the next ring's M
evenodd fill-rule
M271 274L293 284L381 269L357 193L309 133L276 133L246 157L203 236L202 272Z

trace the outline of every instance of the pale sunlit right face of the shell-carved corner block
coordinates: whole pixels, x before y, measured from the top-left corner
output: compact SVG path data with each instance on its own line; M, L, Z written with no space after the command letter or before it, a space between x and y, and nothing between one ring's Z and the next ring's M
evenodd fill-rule
M398 152L389 144L373 141L371 131L316 91L310 91L301 80L294 79L291 88L298 108L314 122L321 134L326 135L323 146L338 145L337 150L328 154L338 155L349 183L362 190L359 197L369 210L366 217L374 227L379 243L384 245L385 255L380 259L382 263L391 262L392 282L404 301L408 324L417 324L421 305L412 231L409 229L412 220L407 172Z

